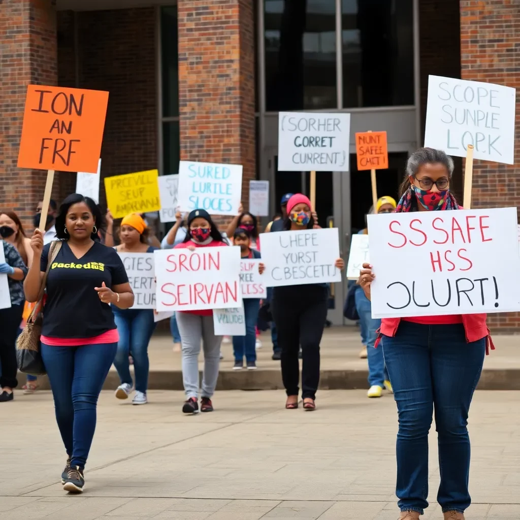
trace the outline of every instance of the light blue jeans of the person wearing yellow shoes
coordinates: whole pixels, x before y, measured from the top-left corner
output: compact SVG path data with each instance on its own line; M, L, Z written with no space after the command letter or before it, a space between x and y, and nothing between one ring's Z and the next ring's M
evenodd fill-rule
M360 286L358 286L355 292L355 298L361 328L361 341L364 335L366 341L364 344L367 345L368 384L370 386L377 385L383 387L385 380L389 379L385 368L383 349L381 346L374 348L377 337L375 331L381 327L381 320L372 318L372 305Z

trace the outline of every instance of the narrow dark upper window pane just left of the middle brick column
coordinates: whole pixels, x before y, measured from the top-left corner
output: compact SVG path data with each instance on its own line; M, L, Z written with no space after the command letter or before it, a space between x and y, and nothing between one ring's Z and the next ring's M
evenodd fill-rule
M179 115L177 7L161 9L163 117Z

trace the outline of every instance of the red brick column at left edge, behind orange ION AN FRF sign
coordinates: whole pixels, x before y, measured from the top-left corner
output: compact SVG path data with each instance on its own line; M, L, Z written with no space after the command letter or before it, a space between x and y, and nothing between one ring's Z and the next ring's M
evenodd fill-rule
M16 166L25 93L29 83L57 84L56 61L51 0L0 2L0 207L16 211L29 228L47 172Z

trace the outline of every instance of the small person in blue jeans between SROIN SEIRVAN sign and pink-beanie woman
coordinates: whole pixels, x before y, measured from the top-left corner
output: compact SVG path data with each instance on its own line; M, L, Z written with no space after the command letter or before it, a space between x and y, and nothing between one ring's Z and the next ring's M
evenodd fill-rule
M249 232L243 228L237 228L233 235L233 243L240 246L242 258L260 258L259 251L253 249ZM245 363L248 370L256 369L256 322L260 310L259 298L243 298L245 336L233 336L233 354L235 354L235 365L233 370L241 370Z

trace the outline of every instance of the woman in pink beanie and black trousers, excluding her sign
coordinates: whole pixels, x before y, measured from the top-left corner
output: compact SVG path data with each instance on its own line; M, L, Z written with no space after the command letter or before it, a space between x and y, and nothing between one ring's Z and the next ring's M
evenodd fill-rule
M302 193L296 193L289 199L287 214L284 230L300 231L316 227L310 200ZM343 269L343 258L336 258L334 265ZM263 263L260 267L262 271L265 269ZM287 392L287 409L298 408L300 345L303 359L303 408L316 409L316 391L320 379L320 341L327 320L328 297L327 283L287 285L273 289L271 309L282 351L282 381Z

